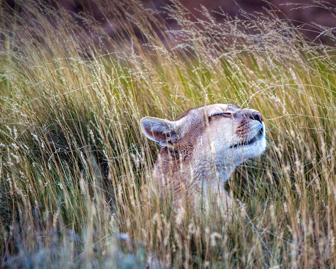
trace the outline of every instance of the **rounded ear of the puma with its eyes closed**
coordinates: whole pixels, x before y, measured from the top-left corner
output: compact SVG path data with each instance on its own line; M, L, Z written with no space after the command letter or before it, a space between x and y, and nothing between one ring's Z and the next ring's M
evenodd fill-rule
M176 123L155 117L144 117L140 120L143 134L149 140L155 141L164 148L178 139Z

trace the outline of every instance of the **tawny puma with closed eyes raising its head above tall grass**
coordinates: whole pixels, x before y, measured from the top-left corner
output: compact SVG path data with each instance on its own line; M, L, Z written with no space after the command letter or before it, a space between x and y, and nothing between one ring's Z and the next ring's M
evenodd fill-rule
M225 181L237 165L266 149L261 113L230 104L194 108L174 121L144 117L140 127L161 147L154 180L163 195L173 194L176 207L189 197L198 204L208 190L230 204Z

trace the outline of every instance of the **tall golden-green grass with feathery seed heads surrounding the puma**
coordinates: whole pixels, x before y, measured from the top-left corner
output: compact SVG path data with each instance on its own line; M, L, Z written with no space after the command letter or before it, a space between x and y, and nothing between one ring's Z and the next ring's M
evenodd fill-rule
M113 37L87 13L1 9L1 266L335 268L334 48L275 13L219 24L175 2L173 30L137 1L98 5ZM268 137L227 222L160 200L139 130L218 102L259 110Z

